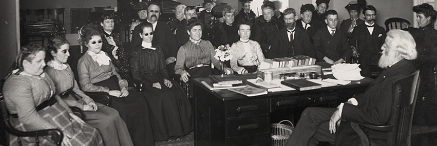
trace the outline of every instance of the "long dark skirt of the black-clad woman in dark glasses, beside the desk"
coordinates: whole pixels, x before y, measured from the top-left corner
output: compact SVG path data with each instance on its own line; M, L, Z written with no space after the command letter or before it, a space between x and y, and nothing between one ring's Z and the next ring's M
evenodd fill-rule
M145 87L143 95L149 103L150 119L155 141L167 140L173 136L183 136L194 128L193 109L183 92L183 88L172 80L168 88L159 74L144 75L152 82L159 82L161 89Z

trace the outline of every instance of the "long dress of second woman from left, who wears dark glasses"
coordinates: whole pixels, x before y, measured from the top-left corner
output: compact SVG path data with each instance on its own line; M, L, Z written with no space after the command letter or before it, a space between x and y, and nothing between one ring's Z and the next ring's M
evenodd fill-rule
M47 67L44 69L44 71L46 71L55 82L56 94L72 89L68 98L63 98L64 101L70 107L83 109L81 103L89 103L92 99L79 90L78 83L73 79L74 75L70 66L66 64L65 66L67 66L67 68L63 69L59 67L59 65L60 64L57 64L54 61L49 61L47 62ZM72 94L78 95L81 98L75 99L72 97ZM103 143L107 146L134 145L130 139L126 123L124 123L117 110L102 105L101 103L96 104L98 107L97 111L83 111L83 120L99 130Z

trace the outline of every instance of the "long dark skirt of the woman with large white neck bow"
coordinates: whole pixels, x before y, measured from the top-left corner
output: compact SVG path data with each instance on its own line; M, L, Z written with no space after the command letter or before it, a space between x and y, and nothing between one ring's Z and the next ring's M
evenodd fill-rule
M120 90L117 77L108 78L94 85L108 87L109 90ZM149 108L144 96L137 91L129 90L127 97L111 96L111 98L110 107L116 109L126 122L134 145L155 145Z

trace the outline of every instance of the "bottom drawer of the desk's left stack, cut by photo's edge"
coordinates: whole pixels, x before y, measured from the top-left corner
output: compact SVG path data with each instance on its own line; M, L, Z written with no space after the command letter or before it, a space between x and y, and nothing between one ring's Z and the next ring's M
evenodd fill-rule
M227 138L226 145L235 146L264 146L270 145L270 133L237 136Z

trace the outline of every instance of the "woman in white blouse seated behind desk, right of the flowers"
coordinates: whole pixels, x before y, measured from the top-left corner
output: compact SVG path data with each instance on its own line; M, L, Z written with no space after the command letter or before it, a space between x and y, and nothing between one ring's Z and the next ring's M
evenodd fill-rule
M251 23L243 18L238 23L238 35L240 40L232 44L231 68L238 74L256 72L258 66L264 60L261 46L254 40L250 40Z

